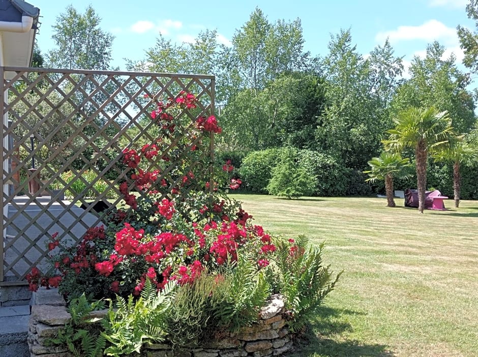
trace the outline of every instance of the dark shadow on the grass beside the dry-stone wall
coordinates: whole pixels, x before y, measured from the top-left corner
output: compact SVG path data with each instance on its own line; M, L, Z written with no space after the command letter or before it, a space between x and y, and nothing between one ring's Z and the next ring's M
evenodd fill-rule
M295 351L290 357L394 357L395 354L382 344L367 344L361 341L343 341L335 338L345 331L352 331L348 322L338 322L335 317L343 315L365 315L364 312L348 309L333 309L322 306L317 318L306 326L304 334L297 338ZM332 320L333 319L333 320Z

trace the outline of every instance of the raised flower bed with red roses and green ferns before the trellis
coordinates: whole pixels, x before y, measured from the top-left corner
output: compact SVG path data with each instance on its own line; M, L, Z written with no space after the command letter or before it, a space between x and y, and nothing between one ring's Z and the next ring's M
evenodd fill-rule
M125 205L110 209L105 225L89 229L77 245L64 247L53 236L52 271L27 276L32 290L58 287L69 302L70 322L59 308L64 328L53 329L57 336L48 341L78 356L165 355L152 352L158 343L211 357L282 353L290 347L285 331L302 328L339 276L322 265L322 245L271 236L227 197L225 189L242 183L229 176L230 161L212 170L201 154L221 132L216 118L187 123L177 114L196 108L194 96L180 92L164 103L151 114L160 135L139 150L123 150ZM280 314L267 316L261 307L278 293ZM91 313L106 302L98 324ZM42 325L48 323L40 310L33 314L36 354L46 337L39 326L53 331ZM203 347L211 336L233 341L234 352L224 351L231 345Z

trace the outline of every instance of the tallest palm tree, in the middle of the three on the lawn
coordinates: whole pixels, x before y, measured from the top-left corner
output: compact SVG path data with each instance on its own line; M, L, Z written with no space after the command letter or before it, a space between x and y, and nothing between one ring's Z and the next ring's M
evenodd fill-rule
M419 212L423 213L428 152L435 151L448 142L449 136L453 134L452 121L448 112L440 112L434 107L410 107L400 111L393 120L395 129L388 131L390 138L383 140L382 143L397 152L407 147L415 149Z

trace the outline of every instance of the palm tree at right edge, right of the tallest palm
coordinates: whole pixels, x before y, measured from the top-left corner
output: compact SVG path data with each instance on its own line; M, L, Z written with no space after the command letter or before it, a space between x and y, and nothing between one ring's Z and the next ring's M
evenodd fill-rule
M433 155L436 161L453 163L453 196L455 199L455 207L460 204L460 166L476 165L478 163L478 145L465 140L463 136L454 138L442 150Z

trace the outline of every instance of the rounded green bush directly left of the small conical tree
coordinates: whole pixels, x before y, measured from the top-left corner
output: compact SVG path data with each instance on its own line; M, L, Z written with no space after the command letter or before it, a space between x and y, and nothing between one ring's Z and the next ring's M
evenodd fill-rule
M272 178L272 169L277 165L281 149L252 151L246 155L239 171L246 189L267 193L265 187Z

